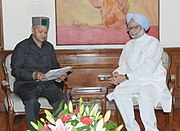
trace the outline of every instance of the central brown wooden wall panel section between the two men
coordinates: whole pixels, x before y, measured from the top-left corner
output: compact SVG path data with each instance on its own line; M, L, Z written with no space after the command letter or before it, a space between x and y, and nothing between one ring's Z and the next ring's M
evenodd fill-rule
M73 66L73 73L68 77L69 88L88 86L108 86L107 81L100 81L99 75L111 75L117 67L121 50L76 50L58 52L58 61L62 66ZM67 56L68 55L68 56Z

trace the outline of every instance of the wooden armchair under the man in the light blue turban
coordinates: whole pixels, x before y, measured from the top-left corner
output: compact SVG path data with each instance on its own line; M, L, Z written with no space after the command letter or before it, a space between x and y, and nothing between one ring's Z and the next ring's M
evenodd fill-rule
M167 82L167 86L172 94L172 109L171 112L166 113L163 112L164 114L164 118L165 118L165 130L166 131L172 131L172 127L173 127L173 113L174 113L174 89L175 89L175 76L174 75L170 75L170 67L171 67L171 57L168 55L167 52L163 52L162 55L162 63L163 66L165 67L165 69L167 70L167 76L166 76L166 82ZM110 88L115 87L115 85L110 85ZM138 109L138 103L136 98L133 98L133 103L134 103L134 109ZM162 106L161 104L158 104L158 106L156 107L156 110L162 110ZM117 120L118 120L118 124L122 124L122 119L121 119L121 115L116 107L116 114L117 114Z

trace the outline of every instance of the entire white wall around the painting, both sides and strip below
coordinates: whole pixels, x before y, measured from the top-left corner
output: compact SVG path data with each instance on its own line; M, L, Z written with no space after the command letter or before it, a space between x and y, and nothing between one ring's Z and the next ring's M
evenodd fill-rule
M13 4L14 3L14 4ZM55 0L2 0L4 49L15 45L31 34L31 17L50 17L48 40L55 49L122 48L123 45L56 46ZM180 47L180 0L160 0L160 41L164 47Z

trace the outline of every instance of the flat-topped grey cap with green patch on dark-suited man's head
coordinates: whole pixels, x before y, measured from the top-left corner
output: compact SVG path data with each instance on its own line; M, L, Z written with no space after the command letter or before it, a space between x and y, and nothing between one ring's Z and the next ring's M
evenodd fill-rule
M32 17L32 26L43 25L49 27L48 17Z

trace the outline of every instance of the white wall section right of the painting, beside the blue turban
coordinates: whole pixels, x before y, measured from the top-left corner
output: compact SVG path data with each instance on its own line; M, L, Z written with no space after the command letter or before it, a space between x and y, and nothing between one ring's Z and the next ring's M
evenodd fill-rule
M160 41L164 47L180 47L180 0L160 0Z

